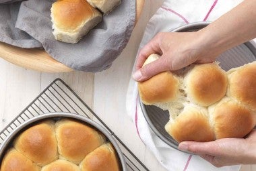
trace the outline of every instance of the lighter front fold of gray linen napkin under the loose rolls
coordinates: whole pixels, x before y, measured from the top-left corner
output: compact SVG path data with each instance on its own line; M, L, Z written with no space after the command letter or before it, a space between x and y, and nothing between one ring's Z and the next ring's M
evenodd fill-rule
M15 27L38 40L50 56L74 70L98 72L108 68L121 54L131 36L135 22L135 0L123 0L77 44L55 40L50 17L53 2L23 1Z

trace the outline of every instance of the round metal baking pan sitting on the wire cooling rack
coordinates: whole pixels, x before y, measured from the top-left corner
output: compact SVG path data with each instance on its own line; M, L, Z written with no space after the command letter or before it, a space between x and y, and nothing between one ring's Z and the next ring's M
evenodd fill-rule
M62 119L62 118L77 119L77 121L82 121L86 125L94 127L96 130L98 130L101 133L103 133L106 136L106 141L110 141L110 143L113 144L113 146L114 146L114 148L115 148L115 150L117 152L117 158L119 160L120 167L122 168L123 171L127 171L127 165L126 165L123 153L121 152L121 149L119 148L119 146L118 146L117 142L115 141L115 139L113 139L112 135L110 135L110 133L108 133L108 131L106 129L104 129L104 127L98 125L98 123L92 121L91 119L88 119L87 117L83 117L81 115L77 115L77 114L73 114L73 113L62 113L62 112L46 113L44 115L38 115L38 116L36 116L36 117L34 117L32 119L29 119L28 121L25 121L20 126L18 126L16 129L14 129L7 136L5 141L3 141L3 144L0 147L0 163L1 163L2 159L3 159L5 151L7 149L9 149L11 146L13 146L13 144L12 144L13 139L15 139L15 137L17 135L22 133L22 131L28 129L29 127L31 127L35 123L38 123L38 122L43 121L45 119L53 119L53 120L57 121L58 119Z

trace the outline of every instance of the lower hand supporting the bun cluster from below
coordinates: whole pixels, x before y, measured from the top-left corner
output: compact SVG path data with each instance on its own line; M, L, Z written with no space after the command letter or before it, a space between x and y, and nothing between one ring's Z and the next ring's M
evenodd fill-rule
M199 154L216 167L256 164L256 130L244 138L224 138L210 142L183 141L179 149Z

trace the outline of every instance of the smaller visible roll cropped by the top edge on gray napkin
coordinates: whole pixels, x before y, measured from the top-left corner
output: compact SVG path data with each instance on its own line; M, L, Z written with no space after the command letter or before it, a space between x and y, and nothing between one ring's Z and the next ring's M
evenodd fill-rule
M102 13L107 14L113 11L117 5L121 3L120 0L86 0L90 5L96 7L102 11Z

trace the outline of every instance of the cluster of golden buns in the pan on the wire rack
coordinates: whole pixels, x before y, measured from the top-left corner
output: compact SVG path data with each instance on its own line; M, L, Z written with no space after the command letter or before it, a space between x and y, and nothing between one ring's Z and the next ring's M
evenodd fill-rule
M102 133L72 119L43 121L18 135L1 171L119 171L116 152Z

